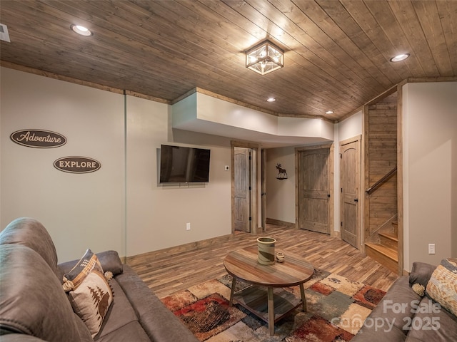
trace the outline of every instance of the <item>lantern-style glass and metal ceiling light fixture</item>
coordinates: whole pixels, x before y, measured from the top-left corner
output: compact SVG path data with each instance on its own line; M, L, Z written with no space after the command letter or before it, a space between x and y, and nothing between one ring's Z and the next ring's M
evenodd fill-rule
M282 68L283 59L284 51L267 40L246 51L246 68L265 75Z

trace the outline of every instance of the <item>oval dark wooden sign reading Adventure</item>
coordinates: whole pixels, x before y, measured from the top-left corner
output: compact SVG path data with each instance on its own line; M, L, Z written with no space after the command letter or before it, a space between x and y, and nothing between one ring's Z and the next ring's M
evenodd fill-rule
M11 140L26 147L53 148L66 144L66 138L51 130L16 130L11 133Z

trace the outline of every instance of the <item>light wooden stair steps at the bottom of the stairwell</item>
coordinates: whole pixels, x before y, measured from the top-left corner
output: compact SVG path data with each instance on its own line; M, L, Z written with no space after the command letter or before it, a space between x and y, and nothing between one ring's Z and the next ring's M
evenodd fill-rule
M373 242L366 242L365 252L368 257L398 273L398 222L381 229Z

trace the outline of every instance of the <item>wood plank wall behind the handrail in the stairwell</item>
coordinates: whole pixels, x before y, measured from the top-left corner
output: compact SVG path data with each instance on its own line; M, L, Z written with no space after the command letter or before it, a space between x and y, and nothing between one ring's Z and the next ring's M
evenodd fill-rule
M397 93L371 103L366 141L366 189L397 165ZM397 213L397 175L366 197L365 239Z

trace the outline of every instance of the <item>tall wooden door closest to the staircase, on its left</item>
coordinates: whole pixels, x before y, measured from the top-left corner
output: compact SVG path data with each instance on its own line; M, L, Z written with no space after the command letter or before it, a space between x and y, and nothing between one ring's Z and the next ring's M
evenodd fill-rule
M360 189L360 138L341 142L341 239L358 248L360 244L361 206Z

